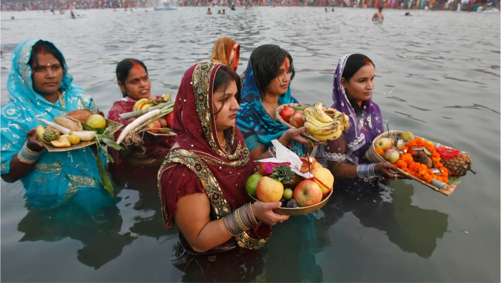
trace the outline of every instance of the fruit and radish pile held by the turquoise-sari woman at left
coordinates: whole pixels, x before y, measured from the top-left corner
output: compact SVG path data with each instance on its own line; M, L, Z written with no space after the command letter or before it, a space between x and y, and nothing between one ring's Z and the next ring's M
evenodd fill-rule
M38 139L53 147L70 147L81 141L92 141L98 132L102 133L106 128L106 119L88 109L71 111L54 118L54 122L39 120L47 126L37 125Z

